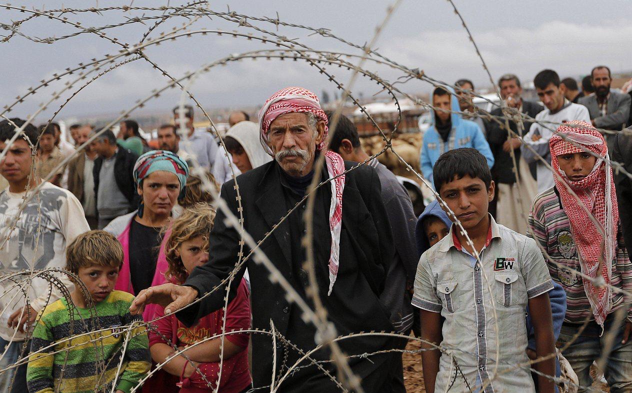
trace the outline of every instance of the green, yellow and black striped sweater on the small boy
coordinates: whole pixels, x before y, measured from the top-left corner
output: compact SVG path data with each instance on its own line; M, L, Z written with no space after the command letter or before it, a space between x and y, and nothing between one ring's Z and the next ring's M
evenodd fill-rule
M109 392L116 384L116 390L129 393L151 365L145 327L135 327L127 337L125 326L142 322L130 314L133 299L112 291L95 309L69 308L66 298L46 306L33 331L31 351L40 352L28 361L28 391Z

